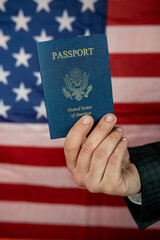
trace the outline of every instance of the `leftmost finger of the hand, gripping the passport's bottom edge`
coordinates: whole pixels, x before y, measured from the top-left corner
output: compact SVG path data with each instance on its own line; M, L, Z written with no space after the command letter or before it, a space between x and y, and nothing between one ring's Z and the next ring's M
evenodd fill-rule
M77 163L77 156L86 135L93 125L93 118L89 115L83 116L71 128L66 136L64 144L64 153L68 169L72 172Z

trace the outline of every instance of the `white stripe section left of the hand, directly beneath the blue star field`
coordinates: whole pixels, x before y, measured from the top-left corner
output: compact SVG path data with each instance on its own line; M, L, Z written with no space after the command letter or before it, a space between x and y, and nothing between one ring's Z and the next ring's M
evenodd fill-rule
M0 124L0 145L63 147L64 139L51 140L48 124Z

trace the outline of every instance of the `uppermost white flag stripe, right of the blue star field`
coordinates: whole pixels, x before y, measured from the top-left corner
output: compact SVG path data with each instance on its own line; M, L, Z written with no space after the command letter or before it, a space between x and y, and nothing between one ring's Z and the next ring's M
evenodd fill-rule
M107 26L110 53L160 53L160 25Z

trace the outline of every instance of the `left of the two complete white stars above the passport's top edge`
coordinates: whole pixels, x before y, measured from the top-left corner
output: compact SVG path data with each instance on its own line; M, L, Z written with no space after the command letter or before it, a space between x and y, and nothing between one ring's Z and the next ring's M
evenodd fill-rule
M29 31L27 23L31 21L31 17L25 17L22 10L19 10L17 17L11 17L12 21L15 22L15 30L19 31L21 28L25 31Z

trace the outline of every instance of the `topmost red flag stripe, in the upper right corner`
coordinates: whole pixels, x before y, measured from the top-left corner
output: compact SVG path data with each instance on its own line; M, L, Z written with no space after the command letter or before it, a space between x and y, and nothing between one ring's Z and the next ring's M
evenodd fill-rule
M159 0L110 0L107 25L160 24Z

